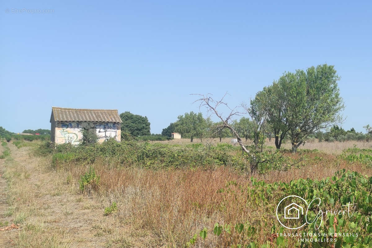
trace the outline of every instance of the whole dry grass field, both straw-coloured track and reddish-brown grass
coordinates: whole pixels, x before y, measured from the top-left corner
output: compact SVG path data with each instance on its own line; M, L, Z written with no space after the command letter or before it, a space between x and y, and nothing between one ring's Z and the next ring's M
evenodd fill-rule
M337 156L354 144L372 147L372 143L362 142L306 143L300 148L324 153L309 153L307 164L300 168L253 177L267 183L321 179L343 168L371 177L372 168ZM246 244L271 242L268 233L276 220L270 209L276 202L262 208L252 203L250 174L226 166L120 168L97 159L92 166L100 176L99 186L81 193L79 179L89 165L66 163L55 169L51 156L33 155L36 145L30 142L17 148L8 143L10 156L0 160L0 229L9 229L0 231L0 247L185 247L195 233L205 227L213 229L216 222L247 220L255 223L257 233L244 240ZM226 190L221 192L221 188ZM105 207L114 202L117 209L105 215ZM235 238L208 235L193 247L237 247L240 238L233 235Z

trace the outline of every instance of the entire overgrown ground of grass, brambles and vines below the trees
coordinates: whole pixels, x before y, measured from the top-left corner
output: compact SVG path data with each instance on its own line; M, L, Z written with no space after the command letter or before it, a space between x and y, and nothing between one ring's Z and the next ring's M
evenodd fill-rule
M222 143L113 141L86 147L7 143L0 160L2 247L370 247L372 143L306 143L251 174L241 149ZM249 141L248 141L249 142ZM266 142L268 152L273 140ZM1 150L1 152L4 148ZM349 171L349 172L348 172ZM315 230L348 232L302 242L276 219L287 195L347 202L355 214L327 216ZM330 200L332 199L332 200ZM350 246L348 246L350 245Z

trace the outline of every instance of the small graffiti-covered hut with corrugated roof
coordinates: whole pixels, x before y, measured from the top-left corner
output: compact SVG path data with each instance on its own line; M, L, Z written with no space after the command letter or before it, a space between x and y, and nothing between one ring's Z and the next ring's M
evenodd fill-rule
M122 120L117 109L77 109L52 107L51 141L79 144L84 135L97 142L114 138L120 142Z

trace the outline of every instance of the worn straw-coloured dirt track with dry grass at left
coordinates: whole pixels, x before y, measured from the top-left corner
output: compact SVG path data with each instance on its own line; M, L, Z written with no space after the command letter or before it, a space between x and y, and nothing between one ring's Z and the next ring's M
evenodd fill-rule
M20 222L20 229L0 231L0 247L116 247L102 203L78 193L66 172L30 155L30 147L8 146L11 158L0 160L0 222ZM14 212L5 216L9 207Z

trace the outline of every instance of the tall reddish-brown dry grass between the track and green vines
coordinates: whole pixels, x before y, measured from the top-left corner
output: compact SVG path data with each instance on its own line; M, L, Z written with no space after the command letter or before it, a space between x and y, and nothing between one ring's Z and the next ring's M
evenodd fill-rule
M289 182L299 178L321 179L331 177L343 168L372 175L372 169L359 163L350 164L339 160L335 155L323 153L320 157L319 154L310 153L308 160L311 165L285 172L271 171L254 177L266 182ZM112 201L117 202L119 212L116 214L116 221L128 223L134 233L144 232L142 235L147 247L182 247L193 234L203 227L211 230L216 222L244 223L265 218L270 227L275 224L274 213L268 213L266 208L250 207L250 175L241 175L229 168L108 170L100 161L94 163L94 168L101 177L96 197L106 199L106 206ZM71 166L69 171L74 180L78 180L78 176L86 169ZM236 182L229 187L230 191L218 193L230 181ZM264 243L270 230L264 226L259 228L255 241ZM227 247L231 242L238 242L238 238L231 241L227 237L217 239L211 235L199 245Z

